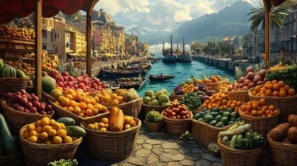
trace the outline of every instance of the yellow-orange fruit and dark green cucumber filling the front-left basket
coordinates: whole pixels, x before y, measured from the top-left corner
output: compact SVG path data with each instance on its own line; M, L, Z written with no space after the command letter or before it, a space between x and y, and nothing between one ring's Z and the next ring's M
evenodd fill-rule
M86 131L79 126L66 126L62 122L44 117L28 124L24 131L24 138L29 142L39 144L65 144L84 136Z

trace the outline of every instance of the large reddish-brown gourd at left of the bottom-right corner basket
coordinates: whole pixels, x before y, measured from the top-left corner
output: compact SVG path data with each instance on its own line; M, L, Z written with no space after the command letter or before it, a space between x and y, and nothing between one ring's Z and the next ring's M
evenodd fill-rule
M271 129L269 136L272 140L282 141L287 137L287 131L289 130L289 123L278 124L278 126L274 129Z

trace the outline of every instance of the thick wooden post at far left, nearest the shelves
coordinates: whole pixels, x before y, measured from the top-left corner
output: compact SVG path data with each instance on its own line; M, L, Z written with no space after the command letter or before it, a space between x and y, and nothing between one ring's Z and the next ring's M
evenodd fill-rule
M42 98L42 0L35 0L35 95Z

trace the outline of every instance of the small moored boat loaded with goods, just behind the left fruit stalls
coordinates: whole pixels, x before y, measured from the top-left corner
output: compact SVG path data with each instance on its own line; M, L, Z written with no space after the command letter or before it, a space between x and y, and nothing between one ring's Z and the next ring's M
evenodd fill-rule
M145 84L145 77L121 77L117 79L118 83L120 83L120 88L123 89L131 89L135 90L141 89L141 87Z

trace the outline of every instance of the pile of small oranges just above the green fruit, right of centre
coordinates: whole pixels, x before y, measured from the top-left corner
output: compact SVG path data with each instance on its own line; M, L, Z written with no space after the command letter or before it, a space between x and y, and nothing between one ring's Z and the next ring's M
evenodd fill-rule
M238 112L241 105L241 101L228 99L226 86L224 86L218 93L213 94L208 100L205 100L204 104L201 105L201 109L207 108L212 110L214 107L217 107L219 110L226 110L228 107L231 107L235 112Z

